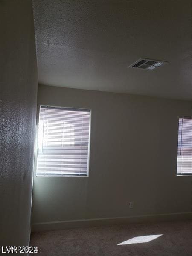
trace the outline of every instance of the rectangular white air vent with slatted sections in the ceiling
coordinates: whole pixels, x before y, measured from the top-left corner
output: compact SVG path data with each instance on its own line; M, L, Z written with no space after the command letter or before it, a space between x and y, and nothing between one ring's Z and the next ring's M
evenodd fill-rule
M152 70L156 69L157 67L161 67L167 63L169 63L169 62L151 60L151 59L147 59L147 58L140 58L138 61L135 61L133 64L131 64L128 67L152 71Z

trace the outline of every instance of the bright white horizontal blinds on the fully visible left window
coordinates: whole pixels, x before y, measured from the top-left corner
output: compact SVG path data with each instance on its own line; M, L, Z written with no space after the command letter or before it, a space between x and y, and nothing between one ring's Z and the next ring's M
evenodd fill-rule
M87 176L90 110L40 107L37 176Z

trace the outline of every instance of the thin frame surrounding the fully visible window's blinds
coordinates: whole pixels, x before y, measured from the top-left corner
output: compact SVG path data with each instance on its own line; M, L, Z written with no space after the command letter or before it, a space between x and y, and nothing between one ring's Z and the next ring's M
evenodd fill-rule
M68 109L79 109L79 110L90 110L90 120L89 120L89 143L88 143L88 154L87 154L87 175L37 175L37 158L38 158L38 125L39 125L39 118L40 118L40 108L41 107L47 107L47 108L68 108ZM91 116L92 116L92 109L91 108L77 108L77 107L64 107L64 106L53 106L53 105L43 105L38 104L37 105L37 114L36 114L36 128L35 128L35 152L34 152L34 164L33 164L33 176L35 178L87 178L89 177L90 172L90 143L91 143Z

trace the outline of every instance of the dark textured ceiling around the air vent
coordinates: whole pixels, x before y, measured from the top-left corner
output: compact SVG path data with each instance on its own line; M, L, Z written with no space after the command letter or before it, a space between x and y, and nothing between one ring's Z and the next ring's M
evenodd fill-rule
M191 1L34 1L39 83L191 99ZM127 68L140 57L169 61Z

